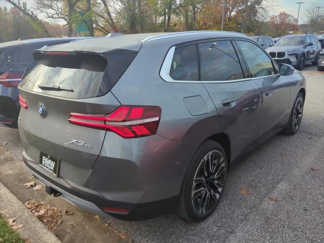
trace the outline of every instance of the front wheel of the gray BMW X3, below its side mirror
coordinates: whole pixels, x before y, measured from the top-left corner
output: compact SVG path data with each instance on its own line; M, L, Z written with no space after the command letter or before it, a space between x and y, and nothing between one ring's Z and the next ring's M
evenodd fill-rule
M301 106L299 102L301 102ZM294 105L292 107L292 111L290 112L288 124L286 128L282 130L284 134L294 135L298 132L303 118L304 103L304 96L301 93L298 93Z

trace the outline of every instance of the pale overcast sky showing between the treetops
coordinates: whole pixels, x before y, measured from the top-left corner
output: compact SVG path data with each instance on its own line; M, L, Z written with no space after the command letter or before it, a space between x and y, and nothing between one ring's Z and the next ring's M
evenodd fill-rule
M299 13L299 21L298 23L303 24L306 23L307 18L305 16L305 9L310 7L312 4L318 4L321 7L324 7L324 0L266 0L275 7L269 9L270 15L276 15L280 12L287 12L289 14L294 15L297 18L298 14L298 4L297 2L304 2L300 6L300 13ZM21 0L21 2L27 2L27 7L31 8L34 4L34 0ZM0 6L7 8L11 8L11 4L9 4L6 0L0 0ZM42 16L39 16L42 17ZM49 20L48 20L49 21Z

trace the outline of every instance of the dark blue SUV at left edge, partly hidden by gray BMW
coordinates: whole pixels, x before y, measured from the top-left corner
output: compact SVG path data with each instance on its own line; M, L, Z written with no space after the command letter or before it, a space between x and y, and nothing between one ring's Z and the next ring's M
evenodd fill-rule
M78 37L25 39L0 44L0 122L18 128L19 99L17 86L32 60L32 51L74 41Z

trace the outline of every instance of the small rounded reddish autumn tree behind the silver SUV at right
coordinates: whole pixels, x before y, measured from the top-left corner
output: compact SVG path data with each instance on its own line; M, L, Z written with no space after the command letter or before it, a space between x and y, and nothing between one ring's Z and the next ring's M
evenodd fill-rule
M280 12L278 15L271 16L269 21L276 36L282 36L287 34L289 31L295 31L296 22L297 19L286 12Z

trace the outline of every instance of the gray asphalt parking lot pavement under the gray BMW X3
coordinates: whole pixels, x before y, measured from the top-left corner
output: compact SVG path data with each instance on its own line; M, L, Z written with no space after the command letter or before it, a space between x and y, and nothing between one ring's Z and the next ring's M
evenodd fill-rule
M19 133L4 126L0 153L20 164L17 169L9 160L1 161L0 181L23 202L38 198L77 212L69 232L62 229L64 224L56 232L63 242L324 242L324 73L311 65L302 72L307 90L300 131L294 136L278 134L238 158L216 212L204 222L187 224L166 215L140 222L109 219L105 224L46 195L44 188L27 195L23 179L14 182L28 175L22 166ZM250 194L242 195L242 188Z

